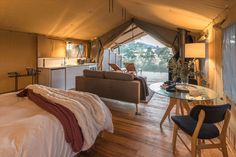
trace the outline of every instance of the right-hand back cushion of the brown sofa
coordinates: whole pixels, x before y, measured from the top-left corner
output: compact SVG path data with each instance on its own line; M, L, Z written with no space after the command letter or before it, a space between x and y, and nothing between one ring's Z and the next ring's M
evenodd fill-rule
M122 73L122 72L105 72L104 76L106 79L113 79L113 80L124 80L124 81L133 81L134 75L129 73Z

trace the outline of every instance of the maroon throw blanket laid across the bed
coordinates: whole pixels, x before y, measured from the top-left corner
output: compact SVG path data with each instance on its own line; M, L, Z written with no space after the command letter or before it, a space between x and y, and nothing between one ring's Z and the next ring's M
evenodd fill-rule
M31 89L24 89L22 92L18 93L17 96L28 96L28 98L39 107L54 115L61 122L65 139L70 143L73 151L81 151L84 141L83 135L72 111L60 104L50 102L43 96L34 93Z

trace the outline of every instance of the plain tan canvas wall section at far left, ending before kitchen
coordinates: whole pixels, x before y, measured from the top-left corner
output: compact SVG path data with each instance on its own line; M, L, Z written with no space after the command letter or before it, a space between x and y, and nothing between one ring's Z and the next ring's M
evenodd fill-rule
M14 90L14 79L8 72L26 73L36 67L36 35L0 30L0 93ZM31 77L19 79L19 88L31 83Z

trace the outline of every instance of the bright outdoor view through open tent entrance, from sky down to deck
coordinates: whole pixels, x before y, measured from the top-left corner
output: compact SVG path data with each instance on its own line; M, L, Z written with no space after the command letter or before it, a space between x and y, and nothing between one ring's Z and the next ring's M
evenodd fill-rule
M120 46L122 67L134 63L138 75L147 77L148 84L168 80L168 61L172 50L149 35Z

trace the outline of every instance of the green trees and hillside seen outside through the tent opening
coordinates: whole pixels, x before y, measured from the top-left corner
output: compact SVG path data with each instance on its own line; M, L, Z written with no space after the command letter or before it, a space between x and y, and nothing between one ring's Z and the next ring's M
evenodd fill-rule
M158 47L141 42L130 42L120 46L123 63L135 63L143 71L168 72L168 61L173 56L168 47ZM123 67L124 67L123 64Z

